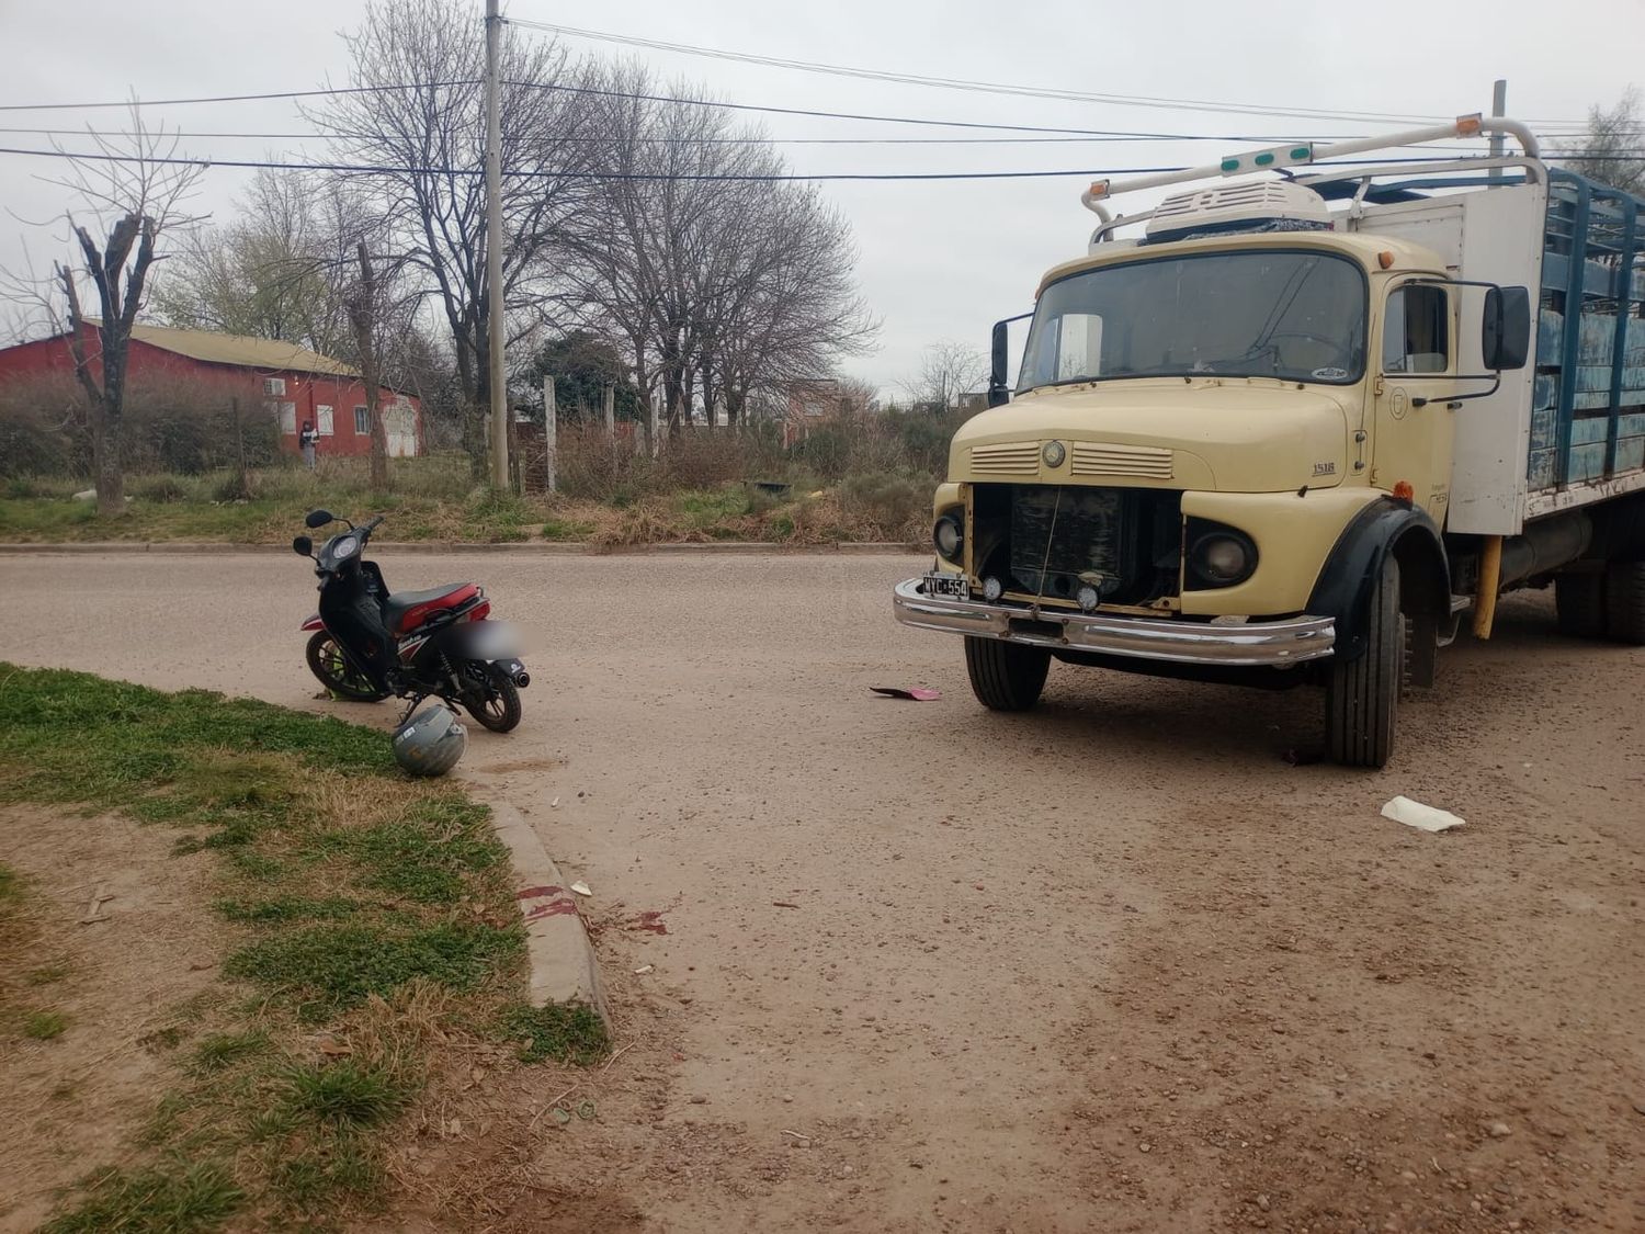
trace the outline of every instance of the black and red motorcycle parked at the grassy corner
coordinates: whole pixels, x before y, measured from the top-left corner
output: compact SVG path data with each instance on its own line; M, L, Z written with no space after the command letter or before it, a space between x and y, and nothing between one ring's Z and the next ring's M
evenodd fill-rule
M487 620L492 602L477 582L433 591L390 592L375 561L364 558L382 515L355 527L329 510L311 510L311 530L341 522L314 551L309 536L291 548L314 561L319 612L303 622L309 670L341 698L378 703L410 699L410 716L423 699L464 707L492 732L520 722L520 691L531 683L508 645L505 627Z

